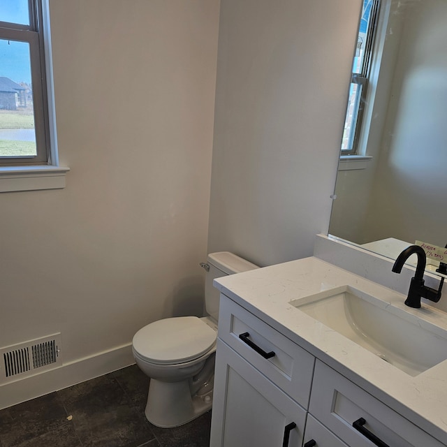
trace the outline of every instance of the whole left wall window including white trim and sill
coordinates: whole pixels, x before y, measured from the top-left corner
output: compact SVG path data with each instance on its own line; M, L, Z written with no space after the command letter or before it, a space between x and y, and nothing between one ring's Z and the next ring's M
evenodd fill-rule
M65 187L52 88L49 0L0 0L0 193Z

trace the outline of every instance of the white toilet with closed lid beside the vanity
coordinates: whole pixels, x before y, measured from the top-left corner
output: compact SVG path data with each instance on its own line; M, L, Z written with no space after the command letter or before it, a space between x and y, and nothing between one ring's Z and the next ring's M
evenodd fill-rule
M207 272L207 316L165 318L133 337L135 362L150 377L145 415L157 427L178 427L211 409L219 317L219 291L212 281L258 268L229 251L209 254L200 265Z

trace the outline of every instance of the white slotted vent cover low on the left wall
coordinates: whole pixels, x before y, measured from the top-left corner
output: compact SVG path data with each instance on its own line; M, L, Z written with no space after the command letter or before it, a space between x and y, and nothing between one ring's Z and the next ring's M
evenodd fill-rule
M61 334L0 349L0 385L62 365Z

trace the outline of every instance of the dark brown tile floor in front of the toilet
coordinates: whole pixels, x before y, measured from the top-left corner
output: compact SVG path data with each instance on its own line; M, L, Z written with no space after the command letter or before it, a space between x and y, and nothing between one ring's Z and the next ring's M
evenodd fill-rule
M211 412L171 429L145 418L136 365L0 410L0 447L208 447Z

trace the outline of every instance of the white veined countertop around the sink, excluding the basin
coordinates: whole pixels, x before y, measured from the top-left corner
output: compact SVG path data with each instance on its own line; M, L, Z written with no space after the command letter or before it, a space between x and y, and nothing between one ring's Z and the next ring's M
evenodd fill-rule
M318 258L305 258L216 279L219 290L293 342L334 367L379 400L447 445L447 360L410 376L314 320L290 304L328 288L349 285L447 329L447 313L423 304L404 305L405 295ZM447 341L446 341L447 342ZM427 346L430 349L430 346Z

